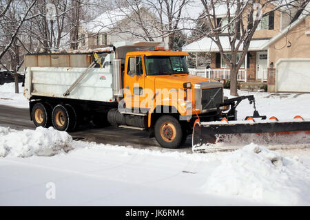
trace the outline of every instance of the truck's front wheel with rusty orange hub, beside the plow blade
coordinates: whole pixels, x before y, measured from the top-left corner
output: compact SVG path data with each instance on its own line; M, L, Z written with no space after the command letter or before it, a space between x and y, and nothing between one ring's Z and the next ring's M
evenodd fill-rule
M178 148L183 142L183 130L176 118L163 115L155 123L154 135L164 148Z

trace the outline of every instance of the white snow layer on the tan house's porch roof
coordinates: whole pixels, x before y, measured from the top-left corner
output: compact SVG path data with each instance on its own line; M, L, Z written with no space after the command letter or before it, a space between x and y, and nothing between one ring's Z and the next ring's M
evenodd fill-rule
M269 40L252 40L249 45L249 51L262 50L262 46L265 45ZM220 36L220 43L225 52L231 51L228 36ZM238 43L238 41L236 42ZM240 50L242 50L242 45ZM218 46L209 37L200 39L200 41L195 41L189 43L182 47L184 52L219 52Z

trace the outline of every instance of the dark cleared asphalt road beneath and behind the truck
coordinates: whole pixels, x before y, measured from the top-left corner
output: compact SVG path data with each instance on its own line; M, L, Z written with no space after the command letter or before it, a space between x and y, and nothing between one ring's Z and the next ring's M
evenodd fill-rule
M17 130L35 129L33 122L30 120L29 109L14 108L1 104L0 126L9 126ZM99 129L89 124L79 127L77 131L71 132L70 135L75 140L85 140L101 144L133 146L134 148L158 149L160 151L185 151L188 153L192 151L190 135L187 137L185 145L178 150L161 148L154 137L149 138L147 131L124 129L116 126L107 126Z

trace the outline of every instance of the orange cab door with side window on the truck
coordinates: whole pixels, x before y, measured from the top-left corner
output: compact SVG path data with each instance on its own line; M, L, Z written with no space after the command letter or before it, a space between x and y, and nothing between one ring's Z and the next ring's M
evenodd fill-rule
M143 56L128 56L125 69L124 89L127 108L137 109L143 100L145 88L145 72ZM126 91L127 90L127 91Z

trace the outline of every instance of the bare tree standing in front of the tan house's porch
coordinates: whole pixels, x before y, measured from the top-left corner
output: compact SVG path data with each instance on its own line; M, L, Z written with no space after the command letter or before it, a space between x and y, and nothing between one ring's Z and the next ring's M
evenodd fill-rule
M258 28L260 20L276 10L302 10L309 0L201 0L205 8L203 16L209 23L209 32L205 33L218 46L220 55L231 70L231 96L238 96L237 74L249 50L251 39ZM224 17L217 19L218 11L225 12ZM224 21L227 23L224 24ZM231 56L223 50L220 36L226 30ZM242 52L240 52L242 51ZM238 52L241 53L237 59Z

